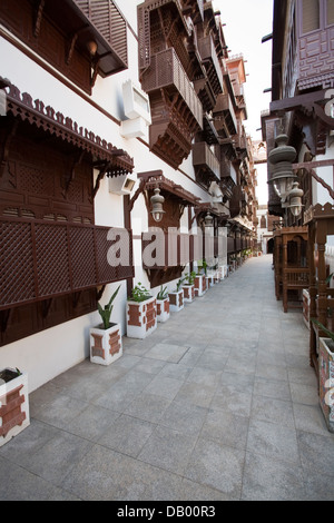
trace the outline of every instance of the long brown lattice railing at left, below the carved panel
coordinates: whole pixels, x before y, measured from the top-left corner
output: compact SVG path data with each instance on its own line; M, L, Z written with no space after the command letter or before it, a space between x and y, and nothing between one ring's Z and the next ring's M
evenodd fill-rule
M127 229L21 218L0 229L0 310L134 276Z

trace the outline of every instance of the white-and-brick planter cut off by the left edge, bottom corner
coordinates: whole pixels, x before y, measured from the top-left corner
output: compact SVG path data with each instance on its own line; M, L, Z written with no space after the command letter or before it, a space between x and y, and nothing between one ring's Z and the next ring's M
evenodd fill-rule
M0 371L0 446L30 425L28 375L18 368Z

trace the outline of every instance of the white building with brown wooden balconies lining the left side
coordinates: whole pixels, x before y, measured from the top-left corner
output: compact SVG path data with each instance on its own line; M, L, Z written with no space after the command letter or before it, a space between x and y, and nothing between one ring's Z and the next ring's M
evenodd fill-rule
M24 369L30 392L88 357L97 303L119 285L112 320L126 335L134 285L156 295L197 268L194 237L208 213L212 258L227 264L247 151L230 140L242 136L244 106L224 46L202 0L1 2L0 367ZM164 70L174 77L148 78ZM176 229L190 248L175 244L175 264L147 267L156 187L164 235Z

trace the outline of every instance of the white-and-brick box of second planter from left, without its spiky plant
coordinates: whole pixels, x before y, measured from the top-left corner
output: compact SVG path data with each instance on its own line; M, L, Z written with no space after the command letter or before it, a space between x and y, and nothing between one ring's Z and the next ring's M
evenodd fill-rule
M91 327L90 361L99 365L110 365L122 355L121 332L119 324L110 324L107 329Z

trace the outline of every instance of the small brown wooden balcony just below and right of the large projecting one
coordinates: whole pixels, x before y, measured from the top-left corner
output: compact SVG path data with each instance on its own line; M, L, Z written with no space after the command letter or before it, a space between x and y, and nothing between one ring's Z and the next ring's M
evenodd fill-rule
M205 141L193 145L193 165L200 181L220 180L219 160Z

